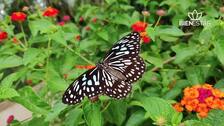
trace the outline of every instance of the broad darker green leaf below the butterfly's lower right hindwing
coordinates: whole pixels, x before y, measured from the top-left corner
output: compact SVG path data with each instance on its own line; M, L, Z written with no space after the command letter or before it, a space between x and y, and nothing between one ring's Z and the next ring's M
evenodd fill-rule
M107 117L110 123L120 126L126 118L126 112L126 101L111 101L110 106L104 112L104 116Z

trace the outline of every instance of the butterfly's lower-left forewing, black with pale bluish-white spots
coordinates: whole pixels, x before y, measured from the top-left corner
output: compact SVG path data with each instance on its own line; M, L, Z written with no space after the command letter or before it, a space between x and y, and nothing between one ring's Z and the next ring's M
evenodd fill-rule
M93 97L100 94L103 89L100 83L101 69L95 67L80 75L65 91L62 102L76 104L85 96Z

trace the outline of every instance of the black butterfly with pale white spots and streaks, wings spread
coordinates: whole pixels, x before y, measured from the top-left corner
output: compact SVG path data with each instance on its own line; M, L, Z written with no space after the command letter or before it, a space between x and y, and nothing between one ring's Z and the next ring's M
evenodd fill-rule
M86 71L70 84L62 102L76 104L85 96L91 99L100 94L116 99L126 97L132 89L131 84L145 72L145 63L139 52L139 33L132 32L124 36L95 68Z

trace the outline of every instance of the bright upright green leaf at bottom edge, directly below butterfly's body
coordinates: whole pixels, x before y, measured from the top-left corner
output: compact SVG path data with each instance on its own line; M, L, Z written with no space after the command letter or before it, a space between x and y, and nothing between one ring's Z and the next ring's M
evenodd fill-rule
M88 126L103 125L103 116L100 111L100 104L87 104L84 106L83 111Z

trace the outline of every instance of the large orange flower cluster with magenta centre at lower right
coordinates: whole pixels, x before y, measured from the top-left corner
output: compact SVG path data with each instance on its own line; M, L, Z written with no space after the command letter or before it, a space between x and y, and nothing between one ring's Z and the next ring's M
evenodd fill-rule
M184 97L174 108L178 111L184 106L187 111L194 111L200 117L206 117L211 109L224 110L223 98L224 93L210 84L195 85L184 89Z

